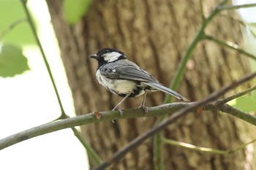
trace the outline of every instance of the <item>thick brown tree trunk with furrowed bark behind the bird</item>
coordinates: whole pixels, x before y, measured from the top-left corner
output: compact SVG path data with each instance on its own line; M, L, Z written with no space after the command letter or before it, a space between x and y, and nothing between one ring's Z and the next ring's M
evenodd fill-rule
M97 1L79 23L69 26L64 20L60 0L47 0L61 57L72 90L78 115L115 107L120 97L109 93L95 79L97 62L89 55L103 47L116 47L129 60L169 85L181 55L202 22L200 1ZM218 1L203 1L206 15ZM222 12L211 21L206 33L231 42L241 42L239 23L233 12ZM178 90L191 101L197 101L249 72L244 56L203 41L189 61ZM241 90L238 89L238 90ZM237 90L237 91L238 91ZM232 92L234 93L234 92ZM230 93L231 94L231 93ZM165 94L150 93L146 106L162 104ZM138 107L142 97L127 99L123 108ZM151 128L156 118L135 118L85 125L83 135L106 160L139 134ZM217 112L190 114L170 125L165 137L202 147L230 150L252 139L252 125ZM254 135L255 136L255 135ZM248 147L230 155L216 155L165 145L166 169L252 169L254 155ZM111 169L154 169L152 140L129 152Z

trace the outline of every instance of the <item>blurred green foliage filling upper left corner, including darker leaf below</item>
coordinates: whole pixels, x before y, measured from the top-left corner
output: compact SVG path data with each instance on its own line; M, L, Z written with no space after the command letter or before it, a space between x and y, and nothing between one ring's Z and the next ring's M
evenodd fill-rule
M22 46L34 45L34 36L19 1L0 1L0 16L8 18L0 22L0 77L14 77L29 70Z

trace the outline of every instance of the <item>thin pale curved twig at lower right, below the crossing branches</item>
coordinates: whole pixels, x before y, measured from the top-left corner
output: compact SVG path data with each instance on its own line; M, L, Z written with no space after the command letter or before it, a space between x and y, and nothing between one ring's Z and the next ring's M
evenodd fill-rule
M162 141L165 142L165 144L170 144L170 145L176 146L176 147L183 147L183 148L186 148L189 150L195 150L195 151L200 151L200 152L210 152L213 154L220 154L220 155L228 155L230 153L237 152L238 150L243 150L248 144L252 144L253 142L256 142L256 139L253 139L252 141L247 142L245 144L241 144L240 146L238 146L232 150L217 150L217 149L213 149L213 148L209 148L209 147L198 147L194 144L178 142L178 141L166 139L166 138L162 138Z

